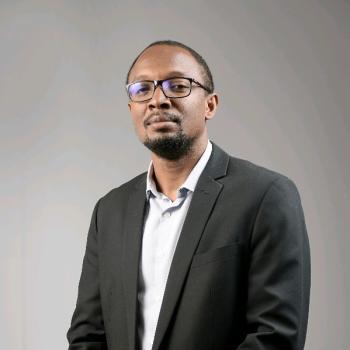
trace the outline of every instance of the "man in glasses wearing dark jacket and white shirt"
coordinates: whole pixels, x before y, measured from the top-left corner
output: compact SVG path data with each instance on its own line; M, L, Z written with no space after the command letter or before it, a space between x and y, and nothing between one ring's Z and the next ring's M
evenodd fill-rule
M149 45L127 92L152 161L96 203L69 349L303 349L310 252L294 183L208 141L218 95L191 48Z

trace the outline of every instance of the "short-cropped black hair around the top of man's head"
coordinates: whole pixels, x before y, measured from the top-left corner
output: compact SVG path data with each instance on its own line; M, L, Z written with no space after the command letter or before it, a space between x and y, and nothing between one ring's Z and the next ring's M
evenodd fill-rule
M128 74L126 75L126 84L129 83L129 76L132 68L134 67L136 61L139 59L139 57L151 46L156 46L156 45L168 45L168 46L177 46L185 49L188 51L192 57L197 61L197 63L201 66L202 71L203 71L203 79L204 79L204 86L208 88L209 93L212 93L214 91L214 81L213 81L213 76L211 74L211 71L207 65L207 62L205 62L204 58L195 50L190 48L189 46L182 44L178 41L174 40L158 40L154 41L153 43L149 44L146 48L144 48L138 56L135 58L134 62L131 64Z

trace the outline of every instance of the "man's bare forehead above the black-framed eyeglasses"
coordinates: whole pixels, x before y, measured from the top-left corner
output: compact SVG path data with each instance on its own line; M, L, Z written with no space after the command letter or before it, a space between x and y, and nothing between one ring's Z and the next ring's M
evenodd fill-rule
M156 45L144 51L131 70L130 81L162 79L170 76L198 78L200 67L185 49L169 45Z

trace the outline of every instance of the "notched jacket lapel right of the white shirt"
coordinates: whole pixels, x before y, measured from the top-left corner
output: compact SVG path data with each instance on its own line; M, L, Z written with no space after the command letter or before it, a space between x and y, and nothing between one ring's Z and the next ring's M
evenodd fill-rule
M215 179L226 174L229 157L213 143L212 155L200 176L181 231L170 267L158 318L152 350L158 350L173 316L185 282L192 256L204 231L206 222L222 190Z

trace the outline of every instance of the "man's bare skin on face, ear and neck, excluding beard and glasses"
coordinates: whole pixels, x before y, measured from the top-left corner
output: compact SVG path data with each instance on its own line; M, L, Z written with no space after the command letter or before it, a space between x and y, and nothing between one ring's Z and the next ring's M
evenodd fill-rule
M189 52L176 46L155 45L139 57L130 72L129 82L175 76L194 78L203 84L201 66ZM175 137L179 133L193 138L191 149L179 159L169 160L151 152L157 188L175 200L177 189L205 151L208 142L206 122L215 115L218 95L207 94L193 85L189 96L169 99L157 87L151 100L129 101L128 106L136 133L144 144L162 137ZM169 121L171 118L176 122Z

